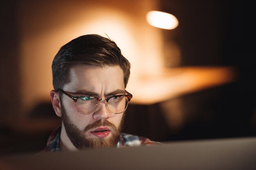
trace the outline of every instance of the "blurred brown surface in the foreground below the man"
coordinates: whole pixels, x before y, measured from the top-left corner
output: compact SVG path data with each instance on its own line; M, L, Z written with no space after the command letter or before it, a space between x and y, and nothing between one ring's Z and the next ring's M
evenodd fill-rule
M0 157L1 170L251 170L256 137Z

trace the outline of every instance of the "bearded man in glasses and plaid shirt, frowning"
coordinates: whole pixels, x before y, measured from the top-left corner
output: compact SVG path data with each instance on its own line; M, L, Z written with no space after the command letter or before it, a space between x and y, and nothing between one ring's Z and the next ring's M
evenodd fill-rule
M157 144L121 133L132 94L130 63L114 41L83 35L65 44L52 63L52 105L62 126L42 152Z

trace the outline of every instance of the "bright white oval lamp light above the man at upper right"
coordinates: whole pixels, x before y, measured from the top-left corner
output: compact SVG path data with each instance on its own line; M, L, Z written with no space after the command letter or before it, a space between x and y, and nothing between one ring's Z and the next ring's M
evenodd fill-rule
M160 11L150 11L146 15L148 24L157 28L174 29L178 26L179 22L174 15Z

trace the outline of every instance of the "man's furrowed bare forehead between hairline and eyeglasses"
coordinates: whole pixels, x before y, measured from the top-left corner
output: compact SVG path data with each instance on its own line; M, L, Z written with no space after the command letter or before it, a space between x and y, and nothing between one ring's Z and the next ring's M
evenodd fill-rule
M92 66L76 65L70 69L70 82L64 86L69 92L111 93L117 89L124 90L124 73L119 65Z

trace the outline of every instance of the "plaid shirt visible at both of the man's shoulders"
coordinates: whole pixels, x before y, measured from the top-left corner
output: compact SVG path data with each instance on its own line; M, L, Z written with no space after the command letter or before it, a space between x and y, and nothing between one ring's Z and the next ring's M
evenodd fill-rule
M61 137L61 126L55 129L52 132L52 134L49 136L47 145L41 151L41 153L59 152L60 137ZM123 148L127 146L154 145L154 144L160 144L160 142L151 141L146 137L121 133L119 141L117 143L117 148Z

